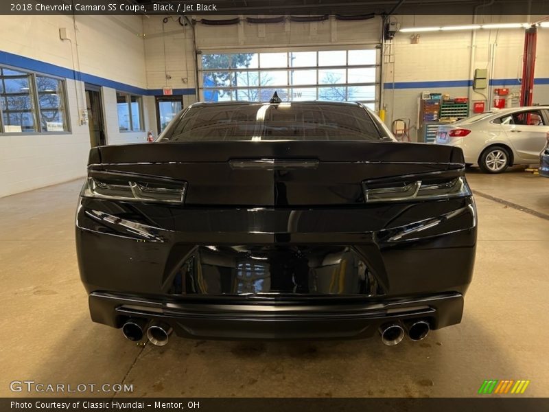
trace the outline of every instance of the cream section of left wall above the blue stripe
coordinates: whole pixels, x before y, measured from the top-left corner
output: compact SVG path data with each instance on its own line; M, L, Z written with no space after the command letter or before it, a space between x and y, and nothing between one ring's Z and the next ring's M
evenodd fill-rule
M0 16L0 23L3 52L146 87L141 16ZM62 27L70 41L60 39Z

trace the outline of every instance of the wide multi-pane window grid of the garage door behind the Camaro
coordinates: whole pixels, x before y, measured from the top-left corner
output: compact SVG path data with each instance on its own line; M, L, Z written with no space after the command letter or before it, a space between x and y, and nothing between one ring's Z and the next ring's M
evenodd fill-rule
M375 109L377 50L202 54L202 101L359 101Z

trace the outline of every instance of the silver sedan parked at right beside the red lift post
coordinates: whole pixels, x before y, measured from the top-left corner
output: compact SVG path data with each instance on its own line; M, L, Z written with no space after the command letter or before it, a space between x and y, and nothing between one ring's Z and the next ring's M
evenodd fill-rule
M539 164L549 132L549 106L504 108L439 126L436 144L462 148L465 163L487 173Z

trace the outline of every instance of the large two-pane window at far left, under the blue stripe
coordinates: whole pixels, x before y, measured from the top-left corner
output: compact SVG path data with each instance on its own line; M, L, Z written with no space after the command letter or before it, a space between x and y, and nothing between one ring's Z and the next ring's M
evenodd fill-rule
M0 67L1 132L67 132L66 107L64 80Z

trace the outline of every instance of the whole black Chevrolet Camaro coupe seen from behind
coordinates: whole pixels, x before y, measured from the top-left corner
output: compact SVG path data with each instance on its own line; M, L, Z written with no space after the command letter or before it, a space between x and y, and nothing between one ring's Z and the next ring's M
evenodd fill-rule
M399 143L359 103L199 103L89 156L76 218L91 318L156 345L459 323L476 209L460 148Z

